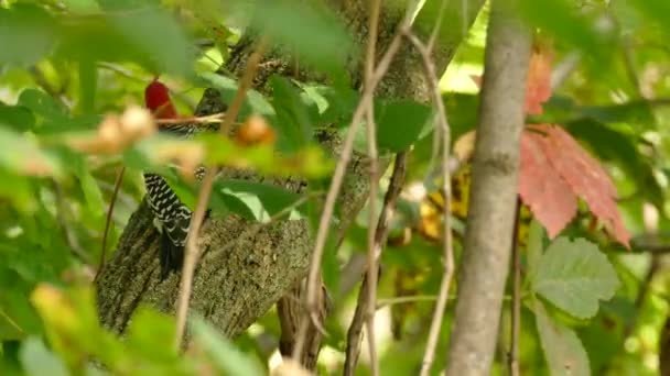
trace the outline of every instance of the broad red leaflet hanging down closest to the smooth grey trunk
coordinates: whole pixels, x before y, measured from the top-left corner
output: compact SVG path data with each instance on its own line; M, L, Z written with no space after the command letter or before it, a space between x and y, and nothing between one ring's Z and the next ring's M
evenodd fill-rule
M544 225L549 237L554 237L576 214L577 198L547 159L542 139L534 132L521 134L519 196Z

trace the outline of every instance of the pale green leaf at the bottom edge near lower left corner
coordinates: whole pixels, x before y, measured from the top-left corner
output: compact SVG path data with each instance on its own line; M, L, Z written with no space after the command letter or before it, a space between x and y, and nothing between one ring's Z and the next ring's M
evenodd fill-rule
M63 361L48 351L44 343L31 336L21 345L21 364L29 376L67 376L69 372Z

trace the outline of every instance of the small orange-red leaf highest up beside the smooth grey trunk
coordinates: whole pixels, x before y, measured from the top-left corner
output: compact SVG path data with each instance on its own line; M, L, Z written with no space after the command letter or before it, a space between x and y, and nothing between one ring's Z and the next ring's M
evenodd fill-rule
M542 103L551 97L551 55L549 49L533 51L528 66L527 114L542 114Z

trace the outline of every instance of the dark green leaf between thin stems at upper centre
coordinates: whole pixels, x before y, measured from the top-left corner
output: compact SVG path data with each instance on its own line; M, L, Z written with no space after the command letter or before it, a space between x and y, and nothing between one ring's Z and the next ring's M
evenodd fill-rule
M383 101L375 110L377 144L398 153L413 144L432 120L430 107L408 100Z

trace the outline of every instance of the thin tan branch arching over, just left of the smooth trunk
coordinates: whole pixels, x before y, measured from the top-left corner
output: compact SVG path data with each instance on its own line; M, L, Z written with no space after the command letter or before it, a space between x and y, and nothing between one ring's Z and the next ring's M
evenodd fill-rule
M446 109L442 101L442 95L437 85L439 78L435 73L435 66L431 59L431 51L411 32L406 33L406 37L417 48L421 55L421 62L425 70L426 81L433 96L433 104L437 109L437 125L442 132L442 189L444 191L444 222L443 222L443 263L444 275L440 284L440 292L437 294L437 302L433 312L433 320L429 332L425 353L421 365L421 375L428 375L435 358L435 350L440 339L440 330L444 318L444 310L449 300L449 289L451 287L452 277L454 274L454 250L452 244L452 225L451 225L451 170L450 170L450 145L451 145L451 128L446 119Z

